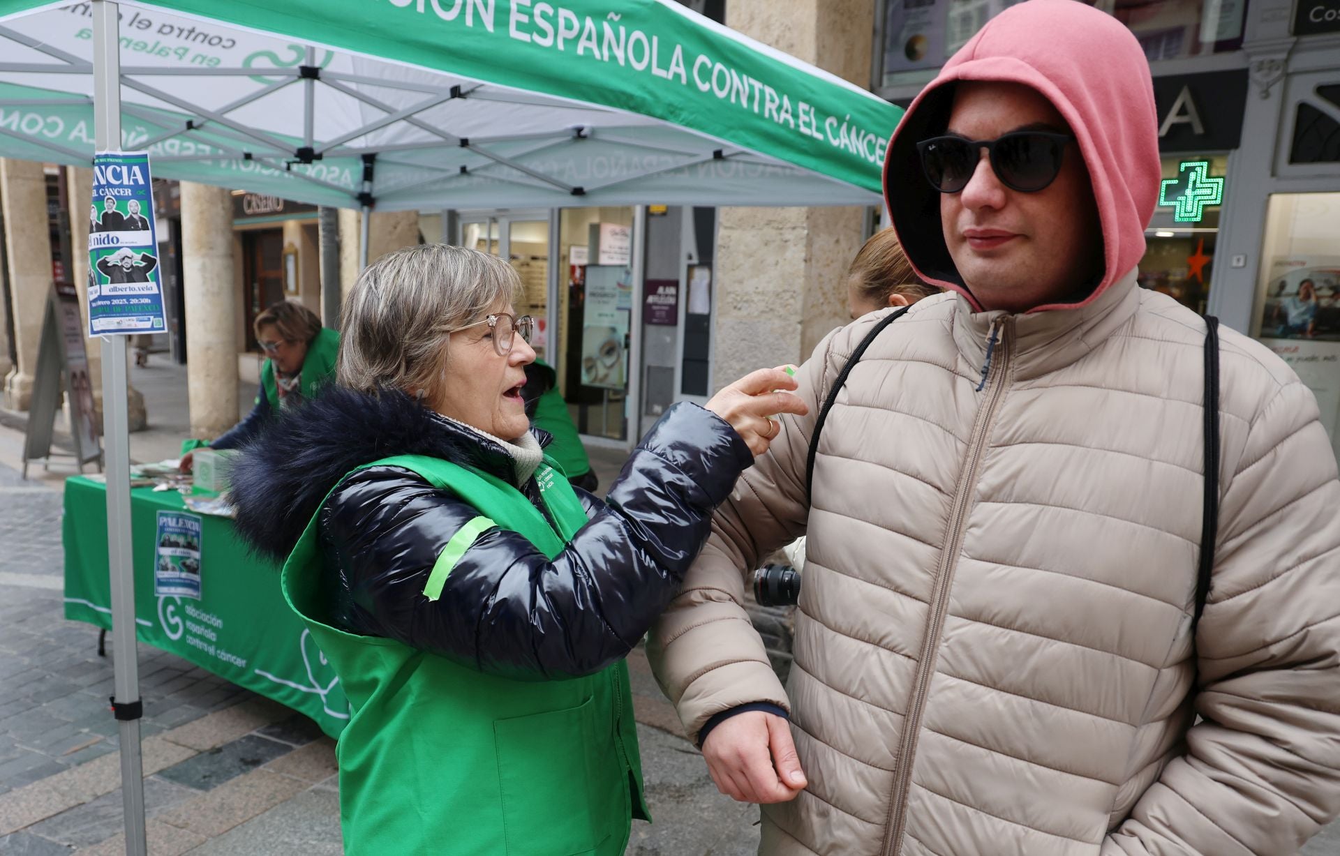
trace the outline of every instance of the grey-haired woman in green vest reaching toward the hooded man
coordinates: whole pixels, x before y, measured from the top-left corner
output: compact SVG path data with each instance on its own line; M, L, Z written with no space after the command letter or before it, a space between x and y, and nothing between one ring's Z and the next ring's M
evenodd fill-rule
M757 371L678 405L608 504L532 433L516 272L472 249L379 259L344 305L338 386L232 473L237 529L350 701L336 749L352 856L618 856L647 818L623 659L713 510L803 413Z

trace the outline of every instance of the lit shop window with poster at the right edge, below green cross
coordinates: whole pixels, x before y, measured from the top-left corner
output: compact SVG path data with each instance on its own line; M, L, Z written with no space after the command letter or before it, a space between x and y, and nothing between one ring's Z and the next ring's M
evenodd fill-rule
M1253 334L1317 397L1340 455L1340 193L1277 193L1266 210Z

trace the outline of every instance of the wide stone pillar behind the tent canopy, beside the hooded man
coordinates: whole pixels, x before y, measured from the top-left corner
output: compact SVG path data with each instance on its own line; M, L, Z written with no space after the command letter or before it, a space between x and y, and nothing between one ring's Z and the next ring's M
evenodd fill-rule
M874 0L730 0L726 24L868 88ZM713 387L799 363L847 323L847 265L864 209L722 208L717 234Z

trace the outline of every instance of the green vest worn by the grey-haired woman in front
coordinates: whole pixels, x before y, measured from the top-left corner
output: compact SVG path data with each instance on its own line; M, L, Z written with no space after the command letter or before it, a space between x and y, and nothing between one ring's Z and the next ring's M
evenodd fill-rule
M449 488L484 518L444 548L425 587L429 597L492 525L553 559L587 522L580 500L548 463L536 478L557 530L520 490L486 473L421 455L358 469L383 465ZM331 627L316 520L289 553L281 585L350 702L336 746L344 852L620 856L630 818L650 820L627 664L571 681L509 681Z

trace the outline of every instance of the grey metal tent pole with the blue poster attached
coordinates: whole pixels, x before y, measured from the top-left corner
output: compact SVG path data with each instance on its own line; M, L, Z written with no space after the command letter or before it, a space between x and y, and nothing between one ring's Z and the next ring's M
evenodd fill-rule
M94 139L98 151L121 149L121 44L117 3L92 1ZM111 575L111 651L121 734L121 796L126 853L145 856L145 780L139 754L139 675L135 651L135 577L130 544L130 426L126 336L105 336L103 437L107 462L107 560Z

